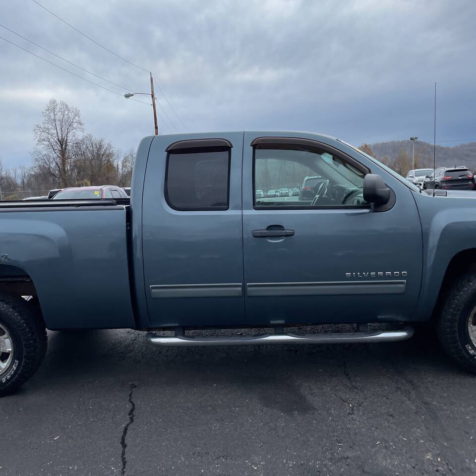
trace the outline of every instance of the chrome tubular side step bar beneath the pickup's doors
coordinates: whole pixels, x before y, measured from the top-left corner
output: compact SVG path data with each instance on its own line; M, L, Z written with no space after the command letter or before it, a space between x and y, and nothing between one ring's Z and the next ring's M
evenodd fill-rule
M343 332L329 334L255 334L250 336L195 337L177 335L158 336L153 332L146 339L156 346L269 346L273 344L345 344L404 341L413 336L413 328L405 327L399 331Z

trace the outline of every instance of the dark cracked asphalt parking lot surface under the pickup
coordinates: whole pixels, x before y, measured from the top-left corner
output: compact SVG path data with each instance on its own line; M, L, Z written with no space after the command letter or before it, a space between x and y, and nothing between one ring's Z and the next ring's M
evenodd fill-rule
M0 475L473 475L476 377L424 339L160 349L50 332Z

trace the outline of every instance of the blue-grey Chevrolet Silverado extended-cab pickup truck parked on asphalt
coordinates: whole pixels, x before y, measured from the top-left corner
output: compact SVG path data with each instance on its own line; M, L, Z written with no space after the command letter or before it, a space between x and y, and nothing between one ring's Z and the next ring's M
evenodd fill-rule
M306 177L322 178L308 199L256 194ZM475 211L474 192L421 191L327 135L146 137L130 199L0 204L0 394L39 367L46 329L132 328L159 346L373 343L427 321L476 372ZM323 323L351 331L308 332Z

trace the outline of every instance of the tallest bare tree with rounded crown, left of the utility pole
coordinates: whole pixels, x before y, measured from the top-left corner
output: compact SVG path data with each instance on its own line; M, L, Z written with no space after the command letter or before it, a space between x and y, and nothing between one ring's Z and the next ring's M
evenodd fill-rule
M70 184L74 145L83 130L79 109L56 99L50 99L43 110L43 122L33 129L38 146L33 151L34 163L40 171L57 179L62 187Z

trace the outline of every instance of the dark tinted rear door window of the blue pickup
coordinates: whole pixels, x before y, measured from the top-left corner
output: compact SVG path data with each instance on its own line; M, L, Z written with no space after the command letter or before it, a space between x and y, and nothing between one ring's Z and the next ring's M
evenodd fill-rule
M230 149L172 150L167 156L165 197L176 210L227 210Z

